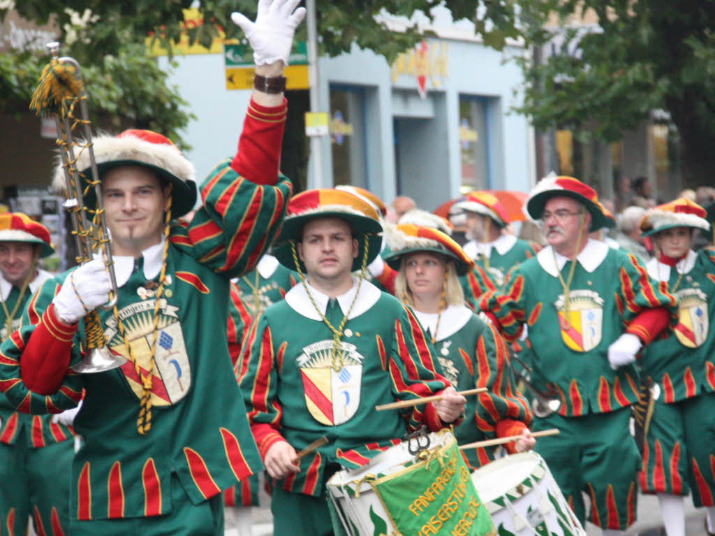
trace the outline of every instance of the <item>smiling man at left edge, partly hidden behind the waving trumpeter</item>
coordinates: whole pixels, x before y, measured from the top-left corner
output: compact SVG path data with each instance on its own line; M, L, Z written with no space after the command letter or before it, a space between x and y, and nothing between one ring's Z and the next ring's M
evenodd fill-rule
M4 340L20 325L24 306L47 279L40 258L54 253L49 230L22 213L0 214L0 322ZM59 416L19 413L0 396L0 520L9 534L69 530L69 474L74 431L68 410ZM64 484L64 492L58 492Z

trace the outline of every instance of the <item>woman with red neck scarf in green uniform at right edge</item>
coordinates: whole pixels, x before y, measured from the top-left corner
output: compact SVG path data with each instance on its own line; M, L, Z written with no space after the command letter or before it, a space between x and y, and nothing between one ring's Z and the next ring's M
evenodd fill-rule
M641 489L658 494L668 536L685 535L683 497L692 492L706 507L707 531L715 533L715 253L692 249L697 229L709 231L706 211L686 198L653 208L640 223L656 257L651 278L679 298L679 322L644 351L638 363L658 396L647 428Z

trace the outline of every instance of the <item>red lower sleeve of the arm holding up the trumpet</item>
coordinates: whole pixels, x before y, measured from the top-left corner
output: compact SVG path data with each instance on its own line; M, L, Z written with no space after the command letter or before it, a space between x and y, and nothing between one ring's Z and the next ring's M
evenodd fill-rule
M56 393L69 366L76 331L77 324L62 322L50 304L20 359L20 376L28 389L38 394Z

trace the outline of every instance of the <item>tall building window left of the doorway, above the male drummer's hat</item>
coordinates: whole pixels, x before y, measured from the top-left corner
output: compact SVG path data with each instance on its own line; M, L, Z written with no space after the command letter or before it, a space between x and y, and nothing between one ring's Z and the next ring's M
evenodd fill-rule
M333 184L368 187L362 87L330 86L330 140Z

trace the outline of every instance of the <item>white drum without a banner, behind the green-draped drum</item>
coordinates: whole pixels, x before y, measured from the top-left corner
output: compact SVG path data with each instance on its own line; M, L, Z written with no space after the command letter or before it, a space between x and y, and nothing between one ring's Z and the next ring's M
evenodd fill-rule
M472 473L472 482L500 536L586 536L536 452L486 464Z

